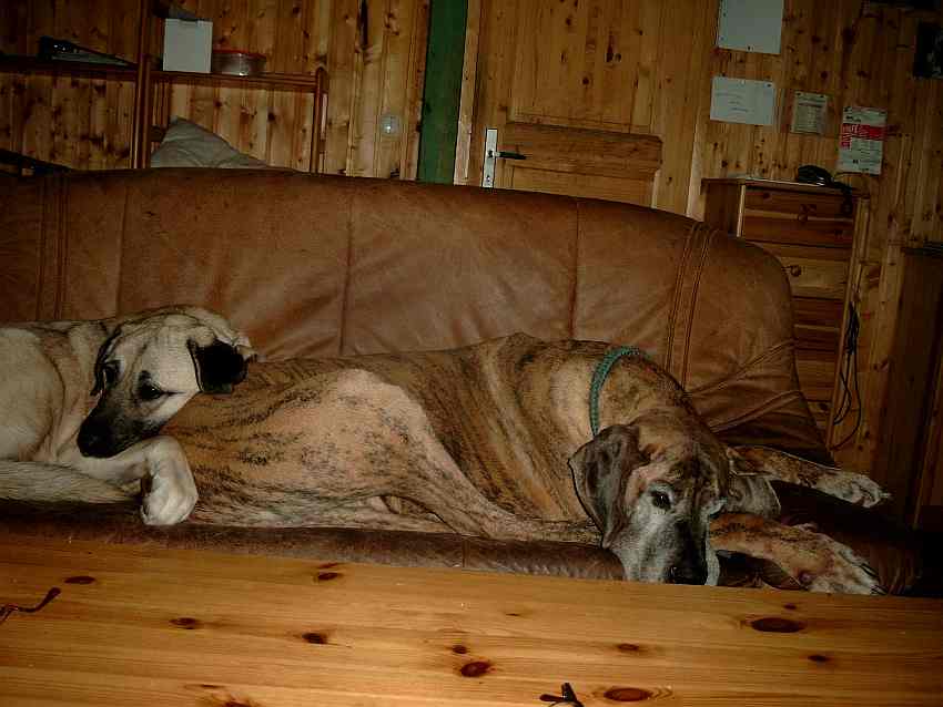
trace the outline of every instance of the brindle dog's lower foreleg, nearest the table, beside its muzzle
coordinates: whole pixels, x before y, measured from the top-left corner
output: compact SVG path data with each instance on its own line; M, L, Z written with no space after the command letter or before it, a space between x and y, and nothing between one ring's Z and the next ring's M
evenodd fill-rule
M772 562L812 592L884 594L874 570L851 547L801 525L724 513L711 522L710 544Z

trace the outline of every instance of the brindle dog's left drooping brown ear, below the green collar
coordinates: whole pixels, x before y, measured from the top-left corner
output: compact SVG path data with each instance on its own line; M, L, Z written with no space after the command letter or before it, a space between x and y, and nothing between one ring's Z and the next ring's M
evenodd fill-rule
M569 465L580 503L602 533L608 547L621 524L619 504L632 471L648 463L635 427L614 424L570 457Z

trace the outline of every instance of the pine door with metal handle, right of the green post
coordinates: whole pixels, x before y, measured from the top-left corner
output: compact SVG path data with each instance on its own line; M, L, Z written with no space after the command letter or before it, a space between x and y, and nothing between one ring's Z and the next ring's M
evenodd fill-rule
M470 9L470 6L469 6ZM483 0L468 184L653 205L660 3Z

